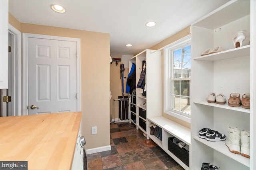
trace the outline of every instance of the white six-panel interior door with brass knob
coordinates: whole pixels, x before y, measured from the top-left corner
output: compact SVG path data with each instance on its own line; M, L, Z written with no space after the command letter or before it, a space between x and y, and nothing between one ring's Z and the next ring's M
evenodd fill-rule
M77 111L76 49L73 41L28 37L28 114Z

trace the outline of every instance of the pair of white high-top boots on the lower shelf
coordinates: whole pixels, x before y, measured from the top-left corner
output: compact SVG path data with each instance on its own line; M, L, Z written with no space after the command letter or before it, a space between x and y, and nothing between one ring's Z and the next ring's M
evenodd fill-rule
M250 158L250 131L243 131L237 127L228 127L226 146L230 152Z

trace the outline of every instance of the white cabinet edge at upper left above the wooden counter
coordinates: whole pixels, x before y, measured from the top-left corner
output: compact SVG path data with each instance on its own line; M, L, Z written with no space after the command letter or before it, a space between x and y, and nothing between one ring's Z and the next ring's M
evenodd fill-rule
M0 89L8 88L8 0L0 2Z

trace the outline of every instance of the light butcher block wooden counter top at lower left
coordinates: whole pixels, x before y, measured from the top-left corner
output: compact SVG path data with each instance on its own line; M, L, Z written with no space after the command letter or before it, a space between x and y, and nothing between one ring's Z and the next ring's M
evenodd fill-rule
M0 161L28 161L28 170L70 170L82 113L0 117Z

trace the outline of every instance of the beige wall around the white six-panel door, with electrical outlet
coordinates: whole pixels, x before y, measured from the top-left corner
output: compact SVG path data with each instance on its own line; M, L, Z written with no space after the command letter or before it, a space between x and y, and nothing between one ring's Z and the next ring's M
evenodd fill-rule
M54 35L81 39L82 135L86 149L110 145L109 89L110 35L92 31L20 23L9 14L9 23L22 33ZM98 133L91 135L91 127Z

